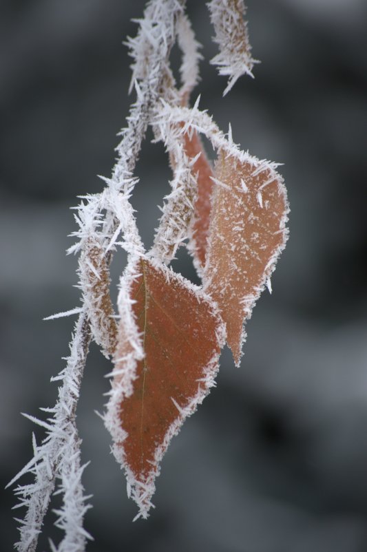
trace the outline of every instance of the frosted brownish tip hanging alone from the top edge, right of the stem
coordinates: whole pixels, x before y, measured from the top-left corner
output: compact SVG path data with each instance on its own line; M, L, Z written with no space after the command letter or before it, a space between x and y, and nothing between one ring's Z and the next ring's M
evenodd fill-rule
M253 76L253 64L257 62L251 56L244 1L211 0L207 6L216 31L214 41L219 46L219 54L210 63L218 65L220 75L229 76L225 96L241 75Z

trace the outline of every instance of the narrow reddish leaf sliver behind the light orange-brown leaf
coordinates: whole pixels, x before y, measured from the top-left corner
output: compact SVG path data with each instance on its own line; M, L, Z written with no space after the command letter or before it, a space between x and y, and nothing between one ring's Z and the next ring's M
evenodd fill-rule
M193 222L193 254L196 266L200 270L205 266L207 253L207 239L209 234L209 221L211 210L211 193L213 191L213 170L205 154L200 137L193 133L192 138L185 134L185 152L193 158L201 153L200 157L193 164L193 173L198 173L198 195L194 205Z

